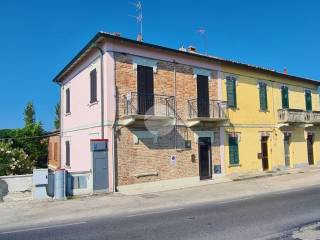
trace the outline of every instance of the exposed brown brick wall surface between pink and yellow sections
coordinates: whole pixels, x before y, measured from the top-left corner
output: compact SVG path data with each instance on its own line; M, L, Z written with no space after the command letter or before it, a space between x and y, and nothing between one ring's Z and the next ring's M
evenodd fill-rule
M137 72L129 55L115 54L117 119L124 116L124 97L129 92L137 91ZM174 64L158 61L157 72L154 73L154 93L159 95L174 95ZM134 143L134 132L146 130L141 126L118 126L116 141L117 185L141 182L167 180L183 177L199 176L198 144L194 131L215 131L219 129L202 127L190 129L186 127L189 99L197 98L197 81L191 66L175 64L176 67L176 105L177 131L154 139L139 139ZM210 99L217 99L217 79L213 72L209 81ZM215 144L212 146L213 164L220 164L219 134L215 134ZM183 149L185 140L191 141L190 149ZM170 161L176 156L176 164Z

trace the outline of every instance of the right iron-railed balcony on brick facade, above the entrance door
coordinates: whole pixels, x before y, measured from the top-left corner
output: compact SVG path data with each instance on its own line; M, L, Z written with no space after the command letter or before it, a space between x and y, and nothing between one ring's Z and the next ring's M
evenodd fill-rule
M219 100L191 99L188 100L189 126L205 122L222 122L228 120L227 103Z

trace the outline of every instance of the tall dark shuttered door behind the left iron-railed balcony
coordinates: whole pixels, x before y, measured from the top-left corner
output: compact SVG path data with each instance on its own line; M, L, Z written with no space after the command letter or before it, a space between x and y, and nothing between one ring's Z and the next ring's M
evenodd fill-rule
M154 92L153 92L153 68L138 65L137 76L137 107L138 114L153 115Z

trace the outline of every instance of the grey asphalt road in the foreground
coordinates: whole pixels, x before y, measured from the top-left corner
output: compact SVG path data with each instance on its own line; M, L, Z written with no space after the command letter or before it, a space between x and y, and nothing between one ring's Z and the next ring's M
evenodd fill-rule
M184 208L10 229L1 231L0 239L280 239L287 231L319 220L320 187L313 187Z

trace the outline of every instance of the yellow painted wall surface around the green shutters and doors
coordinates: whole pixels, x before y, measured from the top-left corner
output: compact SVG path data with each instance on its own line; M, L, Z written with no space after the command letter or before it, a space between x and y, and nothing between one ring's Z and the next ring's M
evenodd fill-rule
M289 108L306 110L305 90L312 91L312 110L320 111L316 84L277 77L241 67L222 66L222 97L227 100L226 77L234 76L236 108L228 108L230 122L224 127L225 171L227 174L263 171L261 136L267 136L268 168L276 170L308 165L307 136L313 134L314 164L320 161L320 127L316 124L279 125L278 109L282 108L281 86L289 89ZM267 111L260 110L259 82L267 86ZM289 165L285 164L284 137L289 134ZM239 164L230 164L229 135L238 136Z

